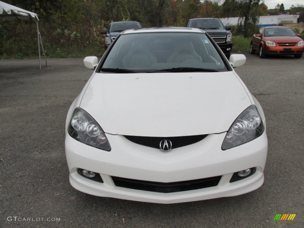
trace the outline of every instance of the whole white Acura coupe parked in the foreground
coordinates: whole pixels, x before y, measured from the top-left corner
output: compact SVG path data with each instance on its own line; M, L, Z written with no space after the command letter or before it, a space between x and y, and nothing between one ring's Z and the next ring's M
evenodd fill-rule
M200 29L121 33L72 103L65 152L71 185L91 195L179 203L241 195L264 181L265 117Z

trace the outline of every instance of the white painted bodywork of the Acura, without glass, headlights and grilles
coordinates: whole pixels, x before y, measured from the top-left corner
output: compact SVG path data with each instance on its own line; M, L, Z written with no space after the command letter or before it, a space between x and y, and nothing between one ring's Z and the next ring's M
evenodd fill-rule
M174 31L203 33L198 29ZM231 57L231 65L244 64L244 56ZM95 58L86 61L87 67L94 68ZM65 152L74 188L96 196L167 204L241 195L263 184L268 149L266 130L250 142L221 149L227 130L250 105L257 107L265 126L261 105L234 70L152 74L95 71L67 113ZM111 151L88 146L69 135L67 128L71 115L78 107L102 127ZM198 143L167 152L133 143L124 137L198 134L208 136ZM103 183L81 176L78 168L97 173ZM256 168L255 173L230 182L233 173L248 168ZM214 187L160 193L118 187L113 176L161 183L221 178Z

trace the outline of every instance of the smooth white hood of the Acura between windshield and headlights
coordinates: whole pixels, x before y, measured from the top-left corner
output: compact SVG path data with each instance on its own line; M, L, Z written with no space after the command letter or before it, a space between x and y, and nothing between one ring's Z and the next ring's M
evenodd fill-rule
M96 73L80 108L106 133L169 137L227 131L250 105L234 71Z

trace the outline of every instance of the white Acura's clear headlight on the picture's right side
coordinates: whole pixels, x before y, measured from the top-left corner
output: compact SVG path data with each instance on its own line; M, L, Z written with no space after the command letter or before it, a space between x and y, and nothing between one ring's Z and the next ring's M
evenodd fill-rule
M247 143L259 137L264 132L263 121L255 105L248 107L231 125L222 144L222 150L227 150Z

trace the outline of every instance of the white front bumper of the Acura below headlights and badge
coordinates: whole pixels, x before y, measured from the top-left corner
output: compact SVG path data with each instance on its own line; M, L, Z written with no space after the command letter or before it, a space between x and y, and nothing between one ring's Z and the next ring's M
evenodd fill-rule
M141 146L124 136L107 134L112 150L99 150L78 142L68 134L65 140L71 185L91 195L154 203L179 203L241 195L259 188L264 181L267 136L221 150L226 133L210 134L202 141L163 152ZM230 183L234 172L255 167L243 180ZM103 183L78 174L77 169L100 174ZM218 185L196 190L160 193L117 187L112 176L141 181L171 183L221 176Z

